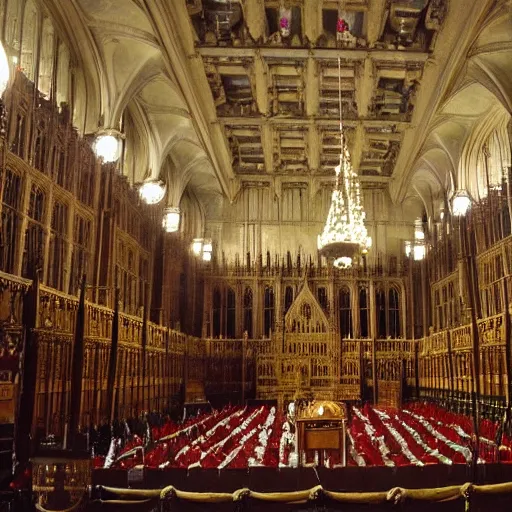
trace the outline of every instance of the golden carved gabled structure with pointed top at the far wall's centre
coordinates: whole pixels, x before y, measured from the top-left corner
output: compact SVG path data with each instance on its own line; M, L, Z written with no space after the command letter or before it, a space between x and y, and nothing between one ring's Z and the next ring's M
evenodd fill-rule
M256 360L258 399L277 400L280 407L340 399L340 340L307 281L266 343Z

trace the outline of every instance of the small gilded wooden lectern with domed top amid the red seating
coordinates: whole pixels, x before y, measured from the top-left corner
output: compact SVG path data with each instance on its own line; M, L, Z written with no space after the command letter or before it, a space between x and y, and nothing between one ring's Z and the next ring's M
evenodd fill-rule
M312 402L298 411L296 419L297 449L303 452L318 450L319 463L323 465L324 450L338 452L342 466L347 465L346 455L346 404L331 401Z

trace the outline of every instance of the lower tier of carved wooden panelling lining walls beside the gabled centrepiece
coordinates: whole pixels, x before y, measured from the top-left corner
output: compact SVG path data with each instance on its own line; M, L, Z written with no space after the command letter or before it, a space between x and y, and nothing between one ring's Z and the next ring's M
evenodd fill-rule
M4 311L0 328L3 336L12 338L16 329L23 331L21 297L31 283L9 280L6 275L0 275L0 280L5 290L0 304ZM34 329L38 350L34 431L39 431L39 435L64 435L70 403L75 399L70 396L70 376L78 300L40 286L38 304ZM113 320L112 310L85 302L81 396L84 427L109 421L107 372ZM507 394L504 316L479 320L477 327L482 395L504 397ZM241 399L244 379L246 393L254 392L254 386L271 389L281 371L276 361L281 349L278 344L277 339L194 338L120 313L114 382L117 416L167 410L187 379L203 381L209 397L231 401ZM475 382L473 345L470 325L433 333L420 340L342 340L339 385L349 386L353 396L364 385L373 385L372 379L384 382L394 376L395 380L405 377L411 388L417 381L420 389L445 396L469 393Z

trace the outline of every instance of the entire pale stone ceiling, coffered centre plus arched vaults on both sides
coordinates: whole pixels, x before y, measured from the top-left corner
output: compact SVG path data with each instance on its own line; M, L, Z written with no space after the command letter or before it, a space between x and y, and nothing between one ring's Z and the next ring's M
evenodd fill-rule
M363 186L397 203L470 187L471 144L510 118L510 0L43 2L83 70L85 131L121 128L129 179L206 215L244 181L332 180L340 88Z

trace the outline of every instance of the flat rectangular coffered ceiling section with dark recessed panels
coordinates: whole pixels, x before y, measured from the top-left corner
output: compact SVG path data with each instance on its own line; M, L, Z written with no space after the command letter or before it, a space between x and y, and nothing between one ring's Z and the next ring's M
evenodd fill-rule
M234 172L332 174L341 96L355 170L382 184L393 174L443 6L190 0Z

